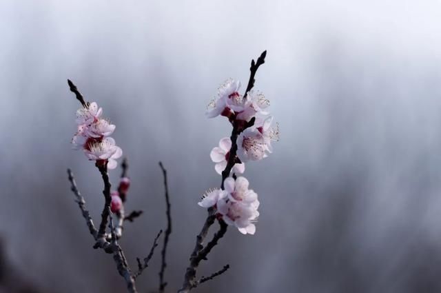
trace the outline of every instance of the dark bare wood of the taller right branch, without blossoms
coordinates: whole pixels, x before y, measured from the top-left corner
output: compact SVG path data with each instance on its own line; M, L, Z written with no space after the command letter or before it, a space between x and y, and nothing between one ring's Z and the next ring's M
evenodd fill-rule
M254 81L255 81L254 77L256 76L256 72L257 72L259 66L262 65L263 63L265 63L266 55L267 55L267 51L264 51L262 54L260 54L260 57L258 57L256 62L254 62L254 60L252 60L251 67L249 68L249 71L250 71L249 81L248 81L247 89L245 90L245 94L243 96L244 98L247 97L249 90L251 90L253 88ZM233 121L234 121L233 130L232 130L232 134L230 137L230 139L232 141L232 147L229 150L229 158L227 161L227 166L225 167L225 170L223 170L223 172L222 172L222 183L220 183L221 189L224 189L223 183L224 183L225 179L227 179L227 177L231 173L232 168L233 168L234 164L236 163L237 137L240 134L240 132L243 132L243 130L245 130L246 128L249 128L252 125L254 125L255 119L254 118L251 119L245 125L241 125L240 123L237 122L236 119L234 119ZM187 293L190 290L192 290L192 288L195 287L195 284L197 286L198 281L196 281L196 269L197 269L199 263L203 259L207 259L207 255L209 254L209 252L211 252L213 247L215 245L217 245L219 239L222 238L225 235L225 233L227 232L228 225L225 223L225 221L223 221L223 219L219 219L218 220L218 223L219 223L218 232L216 232L214 234L212 241L209 241L209 243L207 243L207 246L205 248L203 247L203 241L207 237L208 230L209 230L210 226L213 225L215 219L216 219L216 216L215 216L214 208L209 208L207 219L205 219L205 223L203 225L203 228L202 228L201 232L198 234L198 236L196 236L196 245L194 247L192 255L190 256L190 264L189 264L189 267L187 267L187 270L185 272L183 285L182 285L181 289L178 291L178 293Z

